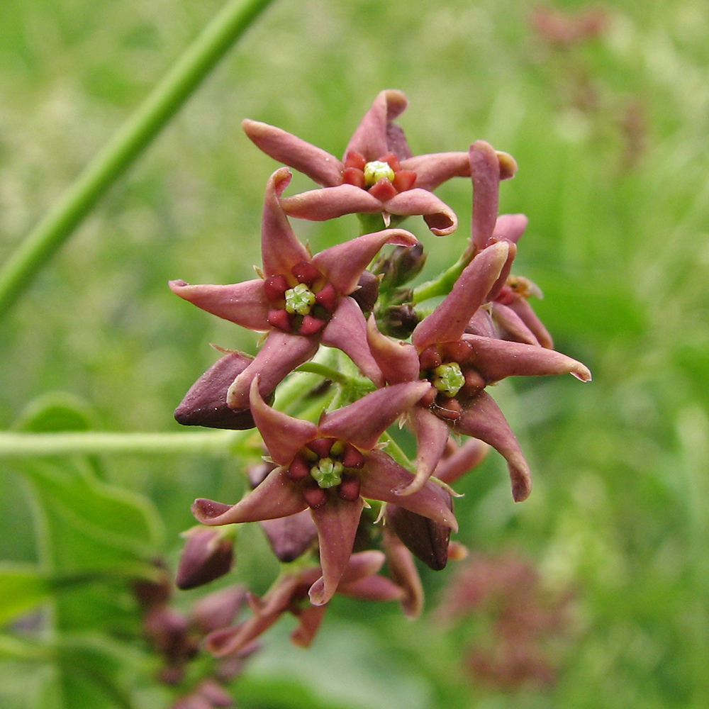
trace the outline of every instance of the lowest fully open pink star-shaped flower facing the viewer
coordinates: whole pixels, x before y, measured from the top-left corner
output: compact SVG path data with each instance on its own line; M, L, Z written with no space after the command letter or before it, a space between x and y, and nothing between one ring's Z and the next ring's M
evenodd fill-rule
M413 475L377 447L386 428L428 389L424 381L386 386L324 414L315 424L267 406L255 379L252 415L278 467L235 505L200 499L192 512L201 523L213 526L277 519L310 508L323 567L310 598L314 605L327 603L352 554L363 498L396 503L457 529L449 495L440 486L423 481L406 498L396 494L396 489L411 484Z

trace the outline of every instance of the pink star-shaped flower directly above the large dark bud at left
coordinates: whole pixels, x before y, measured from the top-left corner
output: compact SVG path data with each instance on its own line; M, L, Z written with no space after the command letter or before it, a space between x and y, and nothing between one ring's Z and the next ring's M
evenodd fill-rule
M279 203L291 181L282 167L269 179L262 220L262 278L227 286L170 281L181 298L237 325L268 332L255 359L226 394L233 411L249 406L249 389L259 376L262 396L318 351L320 343L345 352L365 376L381 383L367 347L366 323L353 298L367 264L384 244L418 243L403 229L365 234L311 256L296 238Z

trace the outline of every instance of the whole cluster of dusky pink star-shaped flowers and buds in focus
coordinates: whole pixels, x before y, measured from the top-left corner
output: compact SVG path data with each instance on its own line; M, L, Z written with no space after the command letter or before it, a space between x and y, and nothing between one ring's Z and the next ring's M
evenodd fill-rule
M523 215L498 215L499 186L515 174L513 158L484 141L465 152L413 157L393 123L404 108L400 91L381 91L342 160L280 128L244 121L249 138L288 166L267 183L258 277L170 283L199 308L265 333L255 357L221 350L175 412L185 425L255 427L267 453L266 463L252 467L253 489L244 498L198 499L192 511L204 530L260 522L282 562L299 559L264 598L250 596L250 620L208 637L215 654L238 652L286 610L301 621L294 640L308 644L336 591L398 600L417 615L423 593L412 554L442 569L464 553L450 541L457 530L450 486L491 446L506 458L515 501L530 493L525 457L486 387L507 376L591 378L583 364L552 349L528 302L539 289L510 274L527 225ZM284 196L289 167L319 188ZM425 252L396 225L418 215L435 235L452 233L457 216L432 193L452 177L471 180L471 237L457 264L412 288ZM364 233L314 255L290 223L350 213L360 216ZM428 314L420 311L434 296L445 297ZM323 381L313 386L312 375L295 371ZM413 432L415 459L388 432L396 422ZM459 445L460 435L469 440ZM228 569L217 537L191 539L182 568L189 586ZM380 576L385 559L389 576Z

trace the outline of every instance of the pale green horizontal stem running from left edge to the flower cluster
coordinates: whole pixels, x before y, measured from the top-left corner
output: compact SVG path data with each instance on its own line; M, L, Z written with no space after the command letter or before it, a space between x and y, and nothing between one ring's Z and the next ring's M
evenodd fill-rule
M0 459L113 453L226 456L253 433L253 430L199 433L0 432Z

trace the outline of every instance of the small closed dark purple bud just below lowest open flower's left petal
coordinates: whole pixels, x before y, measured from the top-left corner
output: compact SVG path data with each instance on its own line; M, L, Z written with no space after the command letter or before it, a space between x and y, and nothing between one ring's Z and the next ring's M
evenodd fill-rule
M234 562L234 544L223 527L192 527L186 537L177 588L186 591L228 574Z

